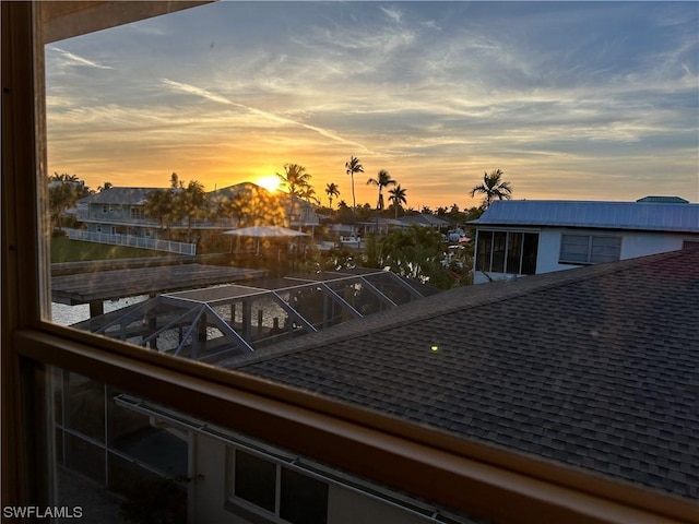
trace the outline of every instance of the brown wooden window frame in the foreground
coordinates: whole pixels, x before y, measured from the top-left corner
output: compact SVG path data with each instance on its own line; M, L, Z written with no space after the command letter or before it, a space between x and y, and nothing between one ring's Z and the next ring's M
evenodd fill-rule
M111 11L135 3L178 2L85 2ZM43 78L35 76L43 59L40 5L0 4L3 505L51 502L43 376L46 367L59 366L493 522L696 519L689 500L43 321L50 298L47 242L38 234L46 230L38 184L46 165L44 93Z

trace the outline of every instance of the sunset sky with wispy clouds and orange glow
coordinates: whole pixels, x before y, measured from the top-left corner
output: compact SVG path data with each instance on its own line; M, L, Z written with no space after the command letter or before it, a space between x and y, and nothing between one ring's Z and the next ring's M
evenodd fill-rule
M206 190L283 172L376 203L699 201L696 2L218 2L46 46L48 172ZM337 202L337 199L335 199Z

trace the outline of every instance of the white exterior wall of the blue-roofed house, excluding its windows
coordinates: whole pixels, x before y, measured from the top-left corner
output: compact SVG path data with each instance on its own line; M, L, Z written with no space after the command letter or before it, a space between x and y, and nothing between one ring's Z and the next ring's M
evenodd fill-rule
M683 248L685 240L699 241L699 234L691 233L663 233L663 231L632 231L620 229L592 229L592 228L564 228L564 227L481 227L477 231L526 231L538 234L538 251L536 255L536 274L550 273L554 271L570 270L581 267L582 264L560 263L560 245L562 235L594 235L621 237L620 260L644 257L648 254L663 253ZM477 249L477 245L476 245ZM474 254L474 264L477 253ZM508 279L518 275L508 273L489 272L488 276L494 281ZM522 276L522 275L519 275ZM488 277L481 271L475 271L474 284L489 282Z

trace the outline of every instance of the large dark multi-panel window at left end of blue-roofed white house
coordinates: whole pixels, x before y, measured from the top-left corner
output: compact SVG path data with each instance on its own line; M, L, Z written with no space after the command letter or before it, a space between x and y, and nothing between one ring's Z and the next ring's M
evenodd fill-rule
M538 234L478 231L476 271L533 275L536 273Z

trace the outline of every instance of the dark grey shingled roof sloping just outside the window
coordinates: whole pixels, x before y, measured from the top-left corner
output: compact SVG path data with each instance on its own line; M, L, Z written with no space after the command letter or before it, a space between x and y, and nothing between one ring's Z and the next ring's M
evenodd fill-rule
M698 499L698 360L685 249L454 289L228 367Z

